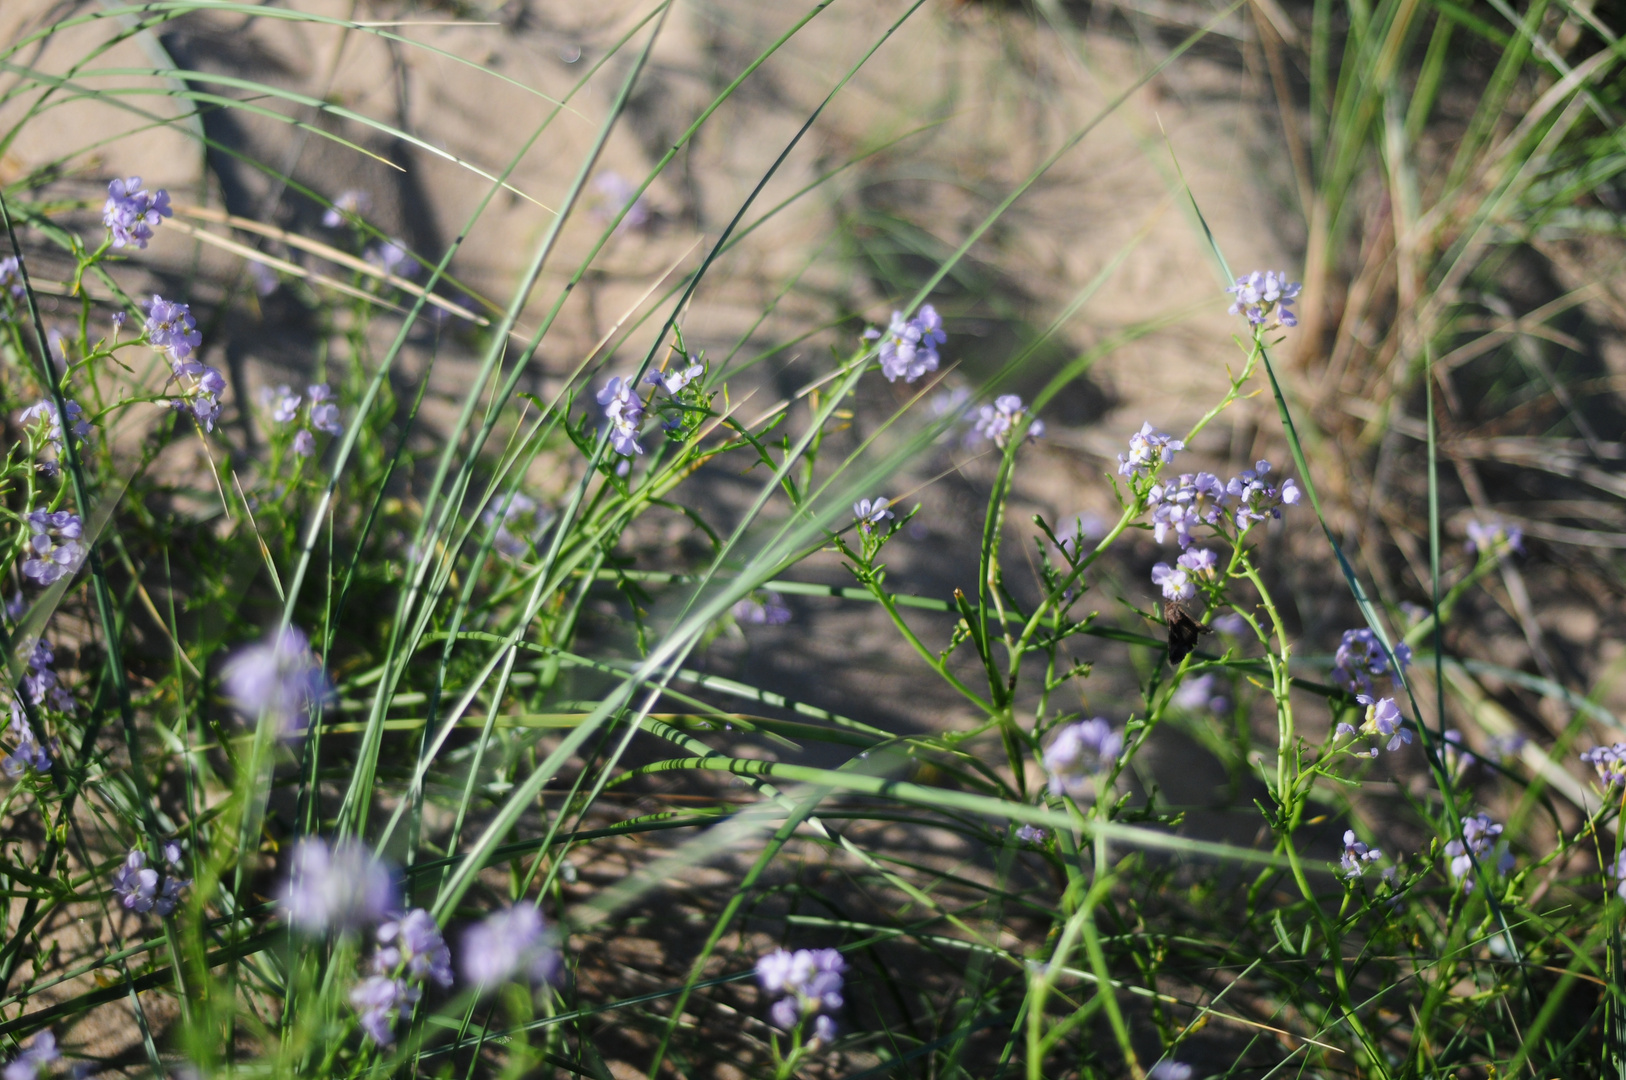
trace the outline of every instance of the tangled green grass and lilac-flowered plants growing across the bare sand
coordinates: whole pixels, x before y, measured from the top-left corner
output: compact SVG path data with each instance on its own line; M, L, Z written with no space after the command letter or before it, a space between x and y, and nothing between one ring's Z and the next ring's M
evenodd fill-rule
M411 44L179 0L44 34L117 18L124 39L203 10ZM263 398L215 363L202 299L193 314L185 286L133 294L143 242L177 228L166 213L202 210L122 177L104 208L62 198L46 172L5 187L16 262L0 267L0 350L18 436L0 477L15 537L0 563L15 594L7 1080L67 1069L59 1054L88 1072L200 1077L606 1077L633 1059L647 1075L764 1077L1618 1072L1626 747L1589 750L1589 786L1571 773L1579 722L1553 747L1470 747L1452 730L1447 690L1467 696L1460 678L1481 668L1447 655L1442 634L1483 582L1514 581L1520 538L1481 524L1473 561L1442 569L1433 408L1459 306L1449 267L1501 224L1511 192L1535 198L1524 179L1558 148L1592 166L1615 153L1579 122L1541 119L1606 102L1572 80L1571 98L1528 114L1528 138L1494 143L1511 88L1551 52L1532 8L1530 47L1496 70L1467 164L1446 172L1437 205L1457 210L1429 226L1447 237L1439 263L1397 272L1416 290L1397 304L1392 355L1424 387L1428 504L1413 540L1428 603L1397 621L1387 577L1374 589L1328 525L1322 485L1345 462L1328 457L1337 444L1306 447L1280 363L1325 325L1353 177L1374 146L1410 148L1429 127L1426 94L1390 115L1424 8L1343 11L1338 70L1330 5L1309 49L1327 138L1302 185L1309 288L1299 299L1276 275L1236 280L1236 338L1215 343L1226 392L1184 431L1153 418L1130 438L1099 480L1119 511L1099 529L1016 522L1011 499L1047 405L1133 335L1026 402L1002 381L1039 345L989 385L922 407L958 385L933 290L1099 115L1002 195L889 325L844 335L779 402L746 408L738 387L758 361L685 337L706 275L785 205L758 207L772 172L659 299L646 350L606 335L554 392L520 392L569 293L639 223L642 192L820 8L730 73L641 184L593 177L668 8L603 49L584 81L603 73L616 91L506 303L462 298L455 244L408 252L358 195L322 198L333 228L320 242L281 231L288 259L239 244L260 267L247 273L324 329L314 377ZM1418 80L1434 93L1455 28L1489 31L1455 7L1426 11ZM88 78L26 67L26 44L8 52L8 93L29 102L8 142ZM250 107L156 73L193 109ZM567 107L481 172L486 197L460 236ZM1392 138L1374 138L1379 117ZM1509 169L1514 151L1524 164ZM1400 159L1384 158L1405 194ZM538 296L592 190L608 198L595 242ZM1406 205L1408 221L1426 216ZM1416 233L1397 236L1418 249ZM72 314L55 338L47 294ZM433 429L428 377L393 377L423 327L475 356ZM883 382L902 390L896 407L876 405ZM1205 470L1203 433L1260 394L1288 457ZM176 447L197 447L200 465L171 465ZM915 595L888 566L920 514L894 485L943 455L979 485L980 545L961 589ZM727 507L702 488L724 472L748 485ZM649 543L655 519L691 543ZM1311 519L1335 568L1320 590L1346 587L1359 613L1330 659L1306 655L1301 597L1267 542ZM1161 553L1150 573L1137 545ZM844 584L815 581L821 564ZM1148 610L1124 599L1158 594ZM893 730L712 670L706 649L725 634L774 641L793 618L785 597L867 605L974 719ZM1122 677L1098 678L1104 667ZM1527 678L1577 717L1606 716ZM1132 690L1091 691L1102 683ZM1171 732L1223 764L1226 805L1159 789Z

